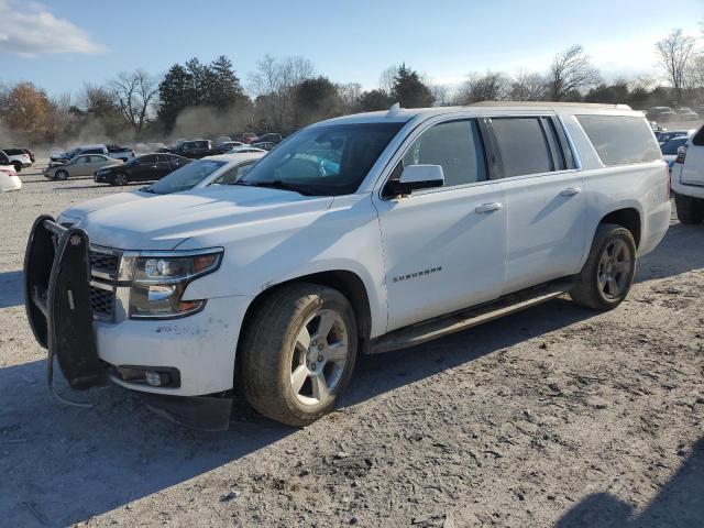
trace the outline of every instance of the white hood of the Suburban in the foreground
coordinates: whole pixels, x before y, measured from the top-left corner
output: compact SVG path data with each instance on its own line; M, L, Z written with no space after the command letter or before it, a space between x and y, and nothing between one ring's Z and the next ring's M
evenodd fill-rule
M95 210L80 227L97 245L168 251L193 237L244 223L322 212L331 204L332 197L263 187L212 186Z

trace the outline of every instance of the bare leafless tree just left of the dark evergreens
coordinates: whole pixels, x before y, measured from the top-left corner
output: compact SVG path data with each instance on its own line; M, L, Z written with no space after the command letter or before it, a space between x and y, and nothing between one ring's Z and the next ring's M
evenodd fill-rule
M158 82L143 69L123 72L108 85L114 103L135 133L152 120Z

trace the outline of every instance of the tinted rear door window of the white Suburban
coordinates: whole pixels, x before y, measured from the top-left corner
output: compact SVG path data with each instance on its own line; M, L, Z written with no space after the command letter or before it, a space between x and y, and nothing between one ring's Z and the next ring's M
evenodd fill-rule
M553 169L552 153L540 118L494 118L492 129L504 178Z

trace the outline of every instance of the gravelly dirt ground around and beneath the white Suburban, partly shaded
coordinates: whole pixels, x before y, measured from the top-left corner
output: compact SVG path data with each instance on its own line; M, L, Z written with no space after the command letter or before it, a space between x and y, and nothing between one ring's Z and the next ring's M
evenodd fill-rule
M117 190L22 179L0 196L0 526L704 526L704 226L673 220L615 311L558 299L363 358L308 428L241 404L205 433L118 387L48 397L26 235Z

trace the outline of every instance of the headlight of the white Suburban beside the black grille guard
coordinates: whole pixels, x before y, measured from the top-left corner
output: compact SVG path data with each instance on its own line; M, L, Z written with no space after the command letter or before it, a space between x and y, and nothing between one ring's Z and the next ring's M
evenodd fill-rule
M218 270L221 260L221 249L132 257L130 318L172 319L200 311L206 301L183 300L184 292L196 278Z

